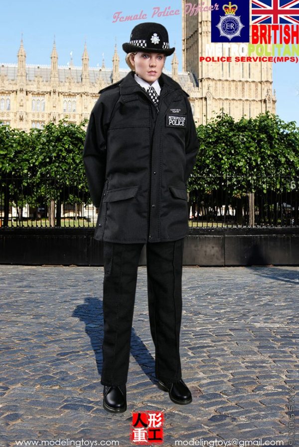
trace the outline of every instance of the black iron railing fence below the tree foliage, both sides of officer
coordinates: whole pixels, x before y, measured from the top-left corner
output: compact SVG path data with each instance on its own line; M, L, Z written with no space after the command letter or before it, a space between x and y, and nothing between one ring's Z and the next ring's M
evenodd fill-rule
M190 227L299 226L299 177L196 176L196 181L188 194ZM96 220L86 185L0 179L2 227L93 227Z

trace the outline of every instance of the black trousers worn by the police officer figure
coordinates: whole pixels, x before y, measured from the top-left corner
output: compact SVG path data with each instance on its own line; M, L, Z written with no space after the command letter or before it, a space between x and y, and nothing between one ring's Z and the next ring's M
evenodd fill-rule
M183 241L147 243L149 323L155 346L155 375L181 379L179 333L182 313ZM128 378L137 271L143 243L103 242L103 385Z

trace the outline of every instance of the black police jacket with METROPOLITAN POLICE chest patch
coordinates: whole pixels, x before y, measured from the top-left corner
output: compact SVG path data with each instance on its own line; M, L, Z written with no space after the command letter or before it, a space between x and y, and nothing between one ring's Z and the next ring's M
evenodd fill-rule
M128 73L100 90L90 116L84 166L99 207L95 239L176 240L188 232L186 183L198 140L188 94L161 74L158 113Z

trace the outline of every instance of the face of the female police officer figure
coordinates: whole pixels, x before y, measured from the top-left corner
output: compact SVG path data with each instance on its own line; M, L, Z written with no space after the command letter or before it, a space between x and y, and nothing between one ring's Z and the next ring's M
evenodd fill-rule
M135 67L136 74L149 82L149 84L152 84L161 76L165 55L163 53L144 53L139 51L137 54L131 54L131 62Z

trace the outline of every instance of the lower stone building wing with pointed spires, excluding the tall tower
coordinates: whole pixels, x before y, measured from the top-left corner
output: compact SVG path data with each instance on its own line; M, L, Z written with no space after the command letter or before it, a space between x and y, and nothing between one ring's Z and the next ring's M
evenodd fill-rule
M51 65L27 65L21 40L17 64L0 64L0 121L24 130L41 128L46 122L58 122L64 117L79 124L84 118L89 118L99 97L98 91L129 72L129 67L120 69L119 62L115 47L112 69L106 68L104 61L101 67L89 67L85 44L81 67L74 66L72 60L68 66L59 66L54 42ZM196 89L195 81L188 73L178 73L175 54L171 65L172 71L164 72L192 95Z

